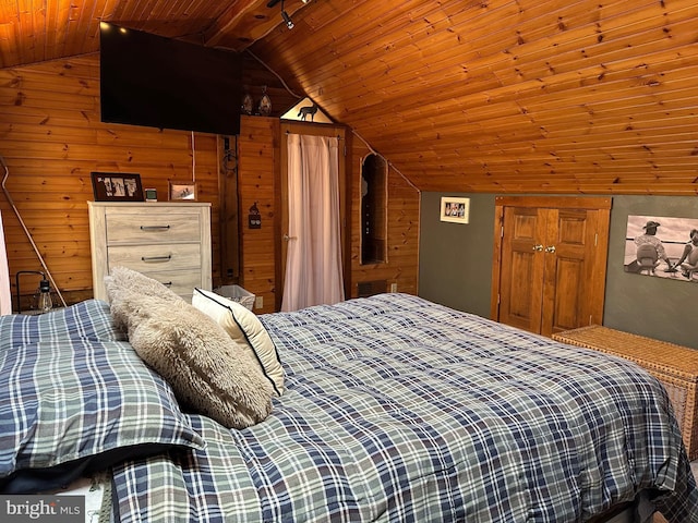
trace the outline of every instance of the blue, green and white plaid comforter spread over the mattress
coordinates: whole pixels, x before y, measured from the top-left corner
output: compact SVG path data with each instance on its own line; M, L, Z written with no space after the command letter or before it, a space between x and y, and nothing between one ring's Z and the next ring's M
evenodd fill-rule
M263 423L113 470L121 522L577 522L698 494L636 365L405 294L262 316L287 372Z

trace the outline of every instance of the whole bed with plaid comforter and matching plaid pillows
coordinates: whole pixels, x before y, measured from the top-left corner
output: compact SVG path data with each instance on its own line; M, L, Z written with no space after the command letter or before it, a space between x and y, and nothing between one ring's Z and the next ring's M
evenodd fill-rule
M108 471L127 523L698 522L666 393L630 362L399 293L258 321L284 390L226 428L106 302L1 317L0 490Z

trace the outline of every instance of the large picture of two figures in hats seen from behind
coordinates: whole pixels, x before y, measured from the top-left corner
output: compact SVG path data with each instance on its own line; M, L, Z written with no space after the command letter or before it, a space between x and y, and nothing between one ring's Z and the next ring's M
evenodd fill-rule
M698 219L628 216L626 272L698 283Z

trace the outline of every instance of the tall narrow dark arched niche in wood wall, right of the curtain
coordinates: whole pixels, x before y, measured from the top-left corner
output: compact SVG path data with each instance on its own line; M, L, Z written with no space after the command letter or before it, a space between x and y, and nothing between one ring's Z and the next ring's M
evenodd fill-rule
M361 166L361 263L387 262L388 166L378 155L368 155Z

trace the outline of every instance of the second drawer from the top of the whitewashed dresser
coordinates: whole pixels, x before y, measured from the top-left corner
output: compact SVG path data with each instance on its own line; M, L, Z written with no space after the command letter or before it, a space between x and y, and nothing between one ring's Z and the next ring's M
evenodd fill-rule
M201 245L183 243L170 245L130 245L107 247L109 267L122 265L139 272L180 270L201 267Z

